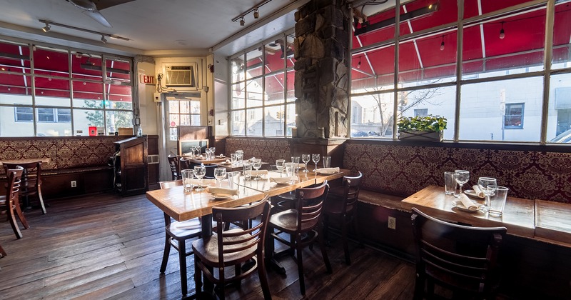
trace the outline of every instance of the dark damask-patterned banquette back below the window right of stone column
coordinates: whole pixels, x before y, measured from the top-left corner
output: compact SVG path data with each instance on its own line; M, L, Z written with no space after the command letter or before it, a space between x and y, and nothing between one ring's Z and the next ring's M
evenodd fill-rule
M571 153L345 144L343 167L363 172L363 189L385 194L443 186L444 171L465 169L465 189L490 176L510 188L510 196L571 203Z

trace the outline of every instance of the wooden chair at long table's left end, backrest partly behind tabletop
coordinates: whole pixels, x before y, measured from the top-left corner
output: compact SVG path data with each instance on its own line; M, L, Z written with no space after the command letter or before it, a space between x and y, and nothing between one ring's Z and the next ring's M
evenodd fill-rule
M174 181L161 181L158 183L161 189L171 189L173 186L182 186L181 179ZM182 192L182 191L181 191ZM165 218L165 249L163 251L163 262L161 263L161 273L166 271L168 256L171 254L171 246L178 251L178 262L181 273L181 291L183 295L188 293L186 277L186 257L193 254L191 250L186 250L186 240L201 236L200 219L190 219L188 221L172 221L171 216L164 214ZM176 241L176 242L175 242Z

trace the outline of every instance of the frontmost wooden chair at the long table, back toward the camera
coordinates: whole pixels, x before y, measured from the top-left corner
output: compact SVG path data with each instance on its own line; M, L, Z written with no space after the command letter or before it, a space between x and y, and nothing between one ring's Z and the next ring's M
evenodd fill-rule
M270 217L268 196L257 204L235 208L213 207L213 219L216 221L216 234L209 238L193 241L194 281L196 291L201 291L202 274L216 284L216 294L224 299L224 286L240 283L246 276L258 270L264 299L271 299L270 287L264 266L263 249L266 229ZM261 216L261 221L251 229L223 230L224 224L246 221ZM242 271L241 264L253 260L251 268ZM234 266L234 275L227 276L226 269ZM218 270L218 276L213 269Z

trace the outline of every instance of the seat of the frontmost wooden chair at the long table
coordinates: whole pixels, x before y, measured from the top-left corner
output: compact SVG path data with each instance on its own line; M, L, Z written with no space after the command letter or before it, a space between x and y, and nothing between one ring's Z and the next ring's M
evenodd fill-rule
M234 233L240 232L243 229L231 229L228 231L224 231L225 233ZM226 237L224 238L225 241L238 241L243 239L244 235L241 236L233 236L233 237ZM247 245L251 245L252 243L256 243L256 241L251 241L251 243L241 243L235 245L227 245L224 249L237 249L246 247ZM209 261L212 264L218 264L218 234L213 234L208 239L197 239L196 241L192 242L192 249L194 251L194 255L198 256L201 261ZM238 252L231 252L229 254L224 254L224 263L225 264L234 264L240 263L246 257L251 257L254 253L256 253L256 247L248 247L243 251Z

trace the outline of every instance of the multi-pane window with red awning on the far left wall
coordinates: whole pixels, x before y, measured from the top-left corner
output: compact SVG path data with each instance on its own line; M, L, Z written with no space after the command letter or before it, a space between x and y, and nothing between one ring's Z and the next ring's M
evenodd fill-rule
M0 41L0 53L0 136L86 136L89 126L106 133L133 126L130 58L14 41Z

